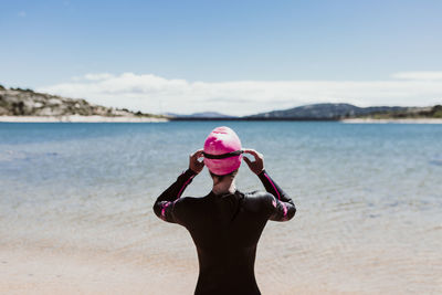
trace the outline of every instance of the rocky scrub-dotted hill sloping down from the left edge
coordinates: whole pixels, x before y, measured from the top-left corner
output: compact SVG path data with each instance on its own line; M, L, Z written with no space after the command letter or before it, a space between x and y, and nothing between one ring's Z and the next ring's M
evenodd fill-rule
M0 85L0 116L104 116L104 117L165 117L93 105L85 99L73 99L32 89L4 88Z

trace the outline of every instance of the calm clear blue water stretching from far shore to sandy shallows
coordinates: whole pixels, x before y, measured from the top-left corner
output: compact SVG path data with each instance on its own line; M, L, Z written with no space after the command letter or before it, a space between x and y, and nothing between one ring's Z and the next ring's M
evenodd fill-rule
M298 210L267 224L260 286L442 293L442 125L0 124L0 243L101 250L192 288L190 236L151 204L220 125L264 154ZM262 188L245 165L236 186ZM185 196L210 188L204 169Z

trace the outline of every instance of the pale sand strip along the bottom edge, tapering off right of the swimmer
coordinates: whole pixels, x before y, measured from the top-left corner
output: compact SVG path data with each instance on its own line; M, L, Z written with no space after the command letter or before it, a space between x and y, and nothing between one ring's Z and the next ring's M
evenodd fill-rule
M196 260L140 255L136 262L106 251L1 247L0 257L0 294L193 294L198 274ZM275 284L266 273L262 267L256 272L263 294L361 294L320 284Z

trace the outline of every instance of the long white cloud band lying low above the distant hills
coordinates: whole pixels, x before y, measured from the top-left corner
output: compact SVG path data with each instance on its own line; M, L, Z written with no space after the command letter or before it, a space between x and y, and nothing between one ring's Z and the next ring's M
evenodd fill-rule
M358 106L423 106L442 103L442 83L422 78L429 72L397 73L387 81L236 81L189 82L152 74L90 73L74 82L38 91L92 103L147 113L217 110L250 115L314 103L350 103ZM427 73L427 74L424 74ZM407 77L407 80L406 80ZM412 78L414 77L414 78Z

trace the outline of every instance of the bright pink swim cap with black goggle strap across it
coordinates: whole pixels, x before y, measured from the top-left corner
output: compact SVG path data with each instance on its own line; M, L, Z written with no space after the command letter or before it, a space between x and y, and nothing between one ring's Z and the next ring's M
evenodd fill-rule
M204 143L204 165L217 175L228 175L241 166L241 140L229 127L214 128Z

